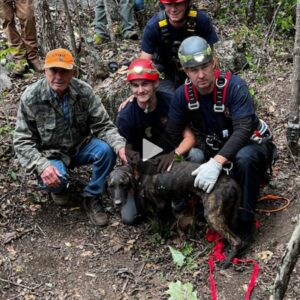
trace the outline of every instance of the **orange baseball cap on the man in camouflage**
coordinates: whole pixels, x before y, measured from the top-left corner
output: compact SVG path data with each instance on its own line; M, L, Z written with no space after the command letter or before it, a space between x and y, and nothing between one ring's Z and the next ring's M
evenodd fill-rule
M67 49L57 48L47 53L44 68L72 70L74 65L75 62L72 53Z

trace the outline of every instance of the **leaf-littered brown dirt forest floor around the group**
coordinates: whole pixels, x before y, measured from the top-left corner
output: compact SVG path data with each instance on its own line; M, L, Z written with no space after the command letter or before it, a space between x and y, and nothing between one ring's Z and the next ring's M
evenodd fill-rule
M292 45L290 41L286 50L292 51ZM137 49L138 43L132 47ZM122 224L109 199L109 224L95 227L76 201L88 169L73 171L74 201L66 208L55 206L47 194L37 191L34 178L24 175L13 152L11 129L21 93L40 76L14 78L0 102L0 299L167 299L169 284L176 281L191 283L198 299L211 299L212 244L204 229L182 236L170 228L164 238L153 221L133 227ZM291 201L282 211L257 213L260 227L245 254L260 268L252 299L268 299L300 211L299 157L291 154L285 141L292 63L284 55L270 54L267 68L259 74L245 70L242 76L256 91L258 115L272 128L279 154L272 181L261 195L272 193ZM176 266L169 246L186 254L183 267ZM226 270L216 265L218 299L243 299L252 271L251 263ZM300 260L285 299L300 299Z

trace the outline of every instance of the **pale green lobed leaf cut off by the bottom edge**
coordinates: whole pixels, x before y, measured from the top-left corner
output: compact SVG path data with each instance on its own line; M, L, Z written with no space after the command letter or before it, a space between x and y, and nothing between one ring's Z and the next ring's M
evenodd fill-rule
M177 280L169 284L166 294L170 295L169 300L197 300L197 292L193 289L190 282L183 284L180 280Z

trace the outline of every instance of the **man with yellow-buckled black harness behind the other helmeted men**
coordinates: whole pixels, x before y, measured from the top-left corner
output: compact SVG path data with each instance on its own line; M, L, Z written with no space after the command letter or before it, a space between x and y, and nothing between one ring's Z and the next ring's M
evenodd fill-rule
M164 79L160 90L174 92L186 75L178 60L178 48L189 36L203 37L211 46L218 41L209 16L195 9L191 0L160 0L165 9L146 24L141 45L141 57L152 59Z

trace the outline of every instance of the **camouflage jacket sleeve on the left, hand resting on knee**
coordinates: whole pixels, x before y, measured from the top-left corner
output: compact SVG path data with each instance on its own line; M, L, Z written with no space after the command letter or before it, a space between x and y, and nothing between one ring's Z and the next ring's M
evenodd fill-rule
M21 97L14 132L14 149L22 167L27 172L36 171L41 174L50 165L47 158L38 150L38 133L36 132L35 116L26 105L26 91Z

